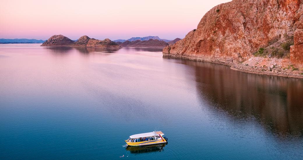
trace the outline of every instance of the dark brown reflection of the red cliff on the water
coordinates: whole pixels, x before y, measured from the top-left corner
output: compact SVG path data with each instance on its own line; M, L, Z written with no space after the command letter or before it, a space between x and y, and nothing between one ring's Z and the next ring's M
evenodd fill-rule
M195 69L198 97L210 109L223 110L239 122L253 116L281 138L302 137L302 79L242 73L208 62L176 61Z

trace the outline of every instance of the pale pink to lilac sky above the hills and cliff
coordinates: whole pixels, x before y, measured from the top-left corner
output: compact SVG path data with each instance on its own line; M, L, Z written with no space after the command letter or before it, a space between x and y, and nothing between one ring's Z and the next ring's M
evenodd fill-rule
M208 10L229 1L7 0L0 6L0 38L184 38Z

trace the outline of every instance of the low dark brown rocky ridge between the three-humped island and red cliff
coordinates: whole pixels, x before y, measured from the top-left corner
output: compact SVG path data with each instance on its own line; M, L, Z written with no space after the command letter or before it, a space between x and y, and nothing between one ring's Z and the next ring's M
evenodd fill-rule
M120 44L122 47L160 47L163 48L168 46L168 43L165 41L159 41L157 39L149 39L148 41L125 41Z

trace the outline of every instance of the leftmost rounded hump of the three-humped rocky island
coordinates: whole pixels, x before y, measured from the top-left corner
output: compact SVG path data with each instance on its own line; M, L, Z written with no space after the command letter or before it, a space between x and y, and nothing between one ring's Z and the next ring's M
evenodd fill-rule
M60 34L48 38L41 46L70 46L73 43L74 41Z

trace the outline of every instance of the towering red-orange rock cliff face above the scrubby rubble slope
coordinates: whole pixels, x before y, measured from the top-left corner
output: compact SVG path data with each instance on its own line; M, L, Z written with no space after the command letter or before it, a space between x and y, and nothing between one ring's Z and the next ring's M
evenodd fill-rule
M208 11L197 29L163 55L192 60L239 63L264 48L269 54L293 42L290 59L303 63L303 1L301 0L233 0Z

